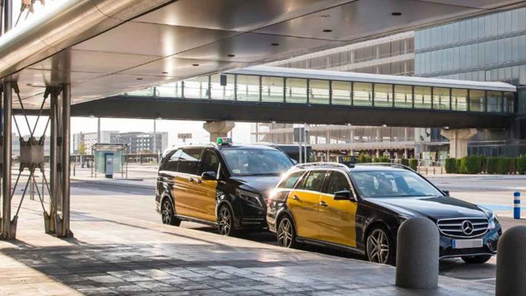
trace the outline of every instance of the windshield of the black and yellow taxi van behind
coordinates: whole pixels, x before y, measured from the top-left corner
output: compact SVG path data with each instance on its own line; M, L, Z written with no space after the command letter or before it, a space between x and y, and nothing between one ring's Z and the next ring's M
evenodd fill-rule
M234 176L279 175L292 167L292 161L281 150L231 148L222 149L221 154Z

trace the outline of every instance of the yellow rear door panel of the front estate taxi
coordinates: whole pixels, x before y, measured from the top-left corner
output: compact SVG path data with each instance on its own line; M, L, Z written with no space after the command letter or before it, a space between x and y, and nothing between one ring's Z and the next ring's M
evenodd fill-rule
M318 203L320 193L308 190L292 190L287 207L296 222L297 236L318 238Z

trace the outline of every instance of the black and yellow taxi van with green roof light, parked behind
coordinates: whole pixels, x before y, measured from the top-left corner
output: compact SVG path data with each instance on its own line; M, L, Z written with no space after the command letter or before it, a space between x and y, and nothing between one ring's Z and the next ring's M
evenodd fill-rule
M163 153L155 195L163 223L211 224L226 236L266 227L268 194L292 160L273 147L219 142Z

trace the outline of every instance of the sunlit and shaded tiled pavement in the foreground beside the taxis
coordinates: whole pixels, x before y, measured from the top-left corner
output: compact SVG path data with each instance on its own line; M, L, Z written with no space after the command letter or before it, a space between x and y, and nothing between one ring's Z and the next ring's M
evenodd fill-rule
M0 295L494 294L446 277L436 290L400 289L389 266L96 211L74 209L75 238L62 240L43 233L37 202L25 205L18 240L0 241Z

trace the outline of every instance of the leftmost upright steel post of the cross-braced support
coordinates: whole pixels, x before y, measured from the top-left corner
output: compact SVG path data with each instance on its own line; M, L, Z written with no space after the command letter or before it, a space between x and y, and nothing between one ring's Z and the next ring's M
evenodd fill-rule
M11 221L11 107L13 86L4 81L4 139L2 168L2 239L13 239L16 236L16 221Z

